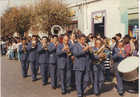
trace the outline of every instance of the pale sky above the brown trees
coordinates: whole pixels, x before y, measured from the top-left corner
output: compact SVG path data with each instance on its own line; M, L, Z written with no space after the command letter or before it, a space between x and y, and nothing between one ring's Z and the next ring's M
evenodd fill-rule
M26 2L27 0L0 0L0 11L1 11L0 16L4 12L4 10L7 9L8 1L9 1L9 7L12 7L14 5L20 6L22 3ZM32 1L35 1L35 0L32 0ZM65 1L68 3L74 3L81 0L65 0Z

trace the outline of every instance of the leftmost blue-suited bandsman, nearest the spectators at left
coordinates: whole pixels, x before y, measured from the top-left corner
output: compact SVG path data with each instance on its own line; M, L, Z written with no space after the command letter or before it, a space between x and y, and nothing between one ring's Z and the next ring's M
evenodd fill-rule
M25 78L27 77L27 71L29 68L26 39L22 39L22 44L19 45L19 53L20 53L20 60L21 60L22 76L23 78Z

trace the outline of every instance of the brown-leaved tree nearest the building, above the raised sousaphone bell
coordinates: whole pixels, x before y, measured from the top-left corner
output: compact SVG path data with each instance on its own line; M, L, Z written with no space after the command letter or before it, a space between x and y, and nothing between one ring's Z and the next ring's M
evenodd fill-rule
M51 34L53 25L66 27L71 21L70 8L61 0L39 0L35 2L35 18L32 20L33 25L36 25L45 33Z

